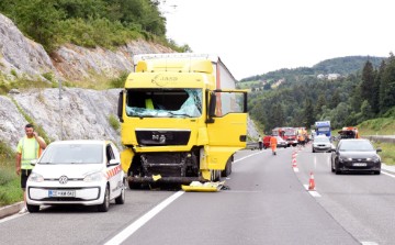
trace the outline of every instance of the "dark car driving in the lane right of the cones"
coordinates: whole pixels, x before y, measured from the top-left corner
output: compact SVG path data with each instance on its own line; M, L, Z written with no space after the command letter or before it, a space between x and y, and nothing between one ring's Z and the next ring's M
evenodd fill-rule
M340 140L331 154L331 171L373 171L380 175L381 158L377 155L381 148L374 149L369 140Z

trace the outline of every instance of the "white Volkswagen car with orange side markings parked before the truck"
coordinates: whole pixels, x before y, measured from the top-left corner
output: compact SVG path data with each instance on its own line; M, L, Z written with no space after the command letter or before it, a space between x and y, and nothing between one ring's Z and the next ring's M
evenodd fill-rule
M54 142L34 165L26 185L29 212L44 204L97 205L106 212L110 200L125 202L125 176L112 142Z

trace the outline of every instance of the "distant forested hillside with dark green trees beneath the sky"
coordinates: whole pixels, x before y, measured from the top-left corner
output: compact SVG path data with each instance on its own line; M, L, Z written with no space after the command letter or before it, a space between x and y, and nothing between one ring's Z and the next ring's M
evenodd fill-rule
M379 60L382 62L377 65ZM249 96L250 115L267 133L275 126L309 129L318 120L330 120L332 127L339 129L377 116L395 116L393 54L385 59L365 58L359 70L348 75L334 79L318 78L317 74L323 70L340 74L340 70L334 69L336 66L332 62L326 60L313 68L283 69L260 76L260 89L252 90ZM279 80L278 87L273 87ZM257 80L255 82L253 86L257 86ZM245 79L239 87L247 83Z

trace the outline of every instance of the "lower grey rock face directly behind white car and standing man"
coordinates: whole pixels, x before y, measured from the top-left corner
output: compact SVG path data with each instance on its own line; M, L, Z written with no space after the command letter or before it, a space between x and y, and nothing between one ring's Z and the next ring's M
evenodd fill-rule
M95 91L66 88L33 90L0 97L0 141L16 148L27 123L21 111L43 127L52 141L95 138L121 144L120 132L110 124L116 116L119 89ZM13 101L11 100L13 99Z

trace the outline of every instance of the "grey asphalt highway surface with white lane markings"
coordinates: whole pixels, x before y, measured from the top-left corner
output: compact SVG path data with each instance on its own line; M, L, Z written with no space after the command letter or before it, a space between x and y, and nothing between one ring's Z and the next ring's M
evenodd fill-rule
M395 176L334 175L306 146L241 151L228 190L129 190L108 213L50 207L0 220L1 244L393 244ZM309 172L316 191L307 191ZM166 203L165 203L165 202Z

